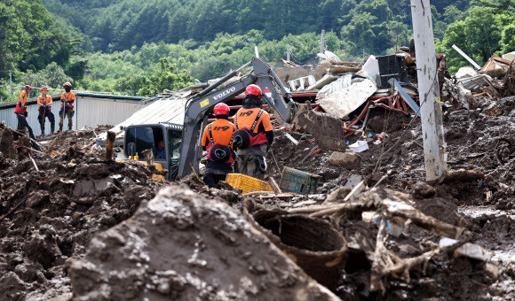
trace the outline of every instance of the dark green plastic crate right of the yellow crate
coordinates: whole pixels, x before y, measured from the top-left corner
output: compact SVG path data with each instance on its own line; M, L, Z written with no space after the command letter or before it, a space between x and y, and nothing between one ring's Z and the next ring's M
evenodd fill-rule
M279 187L282 192L295 192L302 195L316 193L320 175L309 174L295 168L284 167Z

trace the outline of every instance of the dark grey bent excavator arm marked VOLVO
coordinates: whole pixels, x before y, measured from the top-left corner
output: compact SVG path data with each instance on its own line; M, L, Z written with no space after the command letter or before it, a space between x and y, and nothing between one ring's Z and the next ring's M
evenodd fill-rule
M217 89L244 67L250 65L252 65L253 70L249 75L221 89ZM202 155L200 147L201 130L206 126L208 115L213 107L219 103L226 103L234 96L240 95L250 84L256 84L264 91L263 99L265 104L272 107L278 113L281 120L289 122L293 119L297 112L297 104L289 95L288 89L284 87L271 66L259 58L252 58L250 63L232 73L228 73L224 78L195 95L186 104L178 176L184 177L194 169L198 169L198 162ZM288 99L288 102L284 101L283 96Z

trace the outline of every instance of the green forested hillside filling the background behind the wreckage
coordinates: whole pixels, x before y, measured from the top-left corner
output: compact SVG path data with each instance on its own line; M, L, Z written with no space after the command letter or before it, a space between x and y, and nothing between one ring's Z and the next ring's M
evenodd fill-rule
M436 46L451 71L515 50L515 0L432 1ZM151 96L241 66L314 61L321 30L341 58L384 55L412 37L408 0L4 0L0 97L14 81Z

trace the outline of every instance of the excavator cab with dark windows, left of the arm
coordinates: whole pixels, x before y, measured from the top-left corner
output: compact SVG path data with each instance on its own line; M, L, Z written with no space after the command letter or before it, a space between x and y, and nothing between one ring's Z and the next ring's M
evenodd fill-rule
M166 180L173 180L177 175L180 144L182 143L182 125L159 123L134 125L125 128L123 150L127 158L147 161L146 154L154 154L157 169L166 169Z

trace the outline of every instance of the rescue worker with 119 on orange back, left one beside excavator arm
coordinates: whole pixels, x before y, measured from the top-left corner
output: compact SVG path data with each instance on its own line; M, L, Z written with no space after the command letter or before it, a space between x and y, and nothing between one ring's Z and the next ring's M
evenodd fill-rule
M204 182L210 188L219 189L218 182L225 181L227 174L233 172L234 125L228 120L229 111L227 104L215 105L213 113L217 120L204 128L202 135L202 150L208 152Z

